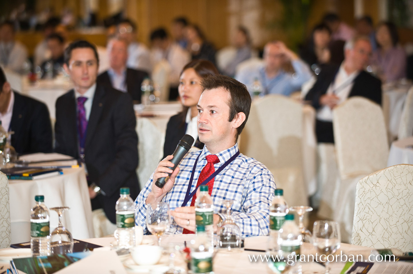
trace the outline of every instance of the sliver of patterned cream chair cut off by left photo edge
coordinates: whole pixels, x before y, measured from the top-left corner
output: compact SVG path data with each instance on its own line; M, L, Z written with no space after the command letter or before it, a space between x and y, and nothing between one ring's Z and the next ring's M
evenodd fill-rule
M0 172L0 248L9 247L11 239L9 181L7 176Z

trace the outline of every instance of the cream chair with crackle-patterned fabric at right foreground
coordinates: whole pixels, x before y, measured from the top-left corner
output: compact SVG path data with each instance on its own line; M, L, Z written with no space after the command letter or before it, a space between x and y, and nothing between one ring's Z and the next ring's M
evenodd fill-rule
M357 183L351 244L413 250L413 165L390 166Z

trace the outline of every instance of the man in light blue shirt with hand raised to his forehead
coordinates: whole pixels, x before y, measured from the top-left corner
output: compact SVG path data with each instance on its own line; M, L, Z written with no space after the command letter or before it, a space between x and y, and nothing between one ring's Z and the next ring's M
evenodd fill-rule
M291 62L294 73L287 71ZM301 89L301 85L311 78L309 66L288 49L283 42L268 42L264 47L263 63L253 63L237 72L235 79L245 84L252 92L252 85L259 80L263 94L290 96Z

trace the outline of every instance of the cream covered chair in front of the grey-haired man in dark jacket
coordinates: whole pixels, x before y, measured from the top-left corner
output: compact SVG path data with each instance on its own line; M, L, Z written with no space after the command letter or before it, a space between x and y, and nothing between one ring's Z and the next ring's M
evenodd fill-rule
M331 218L340 223L344 242L351 240L356 184L387 166L389 146L380 105L351 97L333 110L333 129L339 178L330 182ZM320 208L321 210L321 208Z

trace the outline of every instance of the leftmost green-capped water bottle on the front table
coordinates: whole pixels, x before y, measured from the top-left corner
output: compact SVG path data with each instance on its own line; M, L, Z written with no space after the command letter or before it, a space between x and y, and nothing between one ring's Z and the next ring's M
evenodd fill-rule
M31 209L30 214L31 254L48 256L50 255L49 209L45 206L43 195L36 195L34 199L36 206Z

